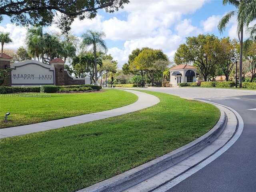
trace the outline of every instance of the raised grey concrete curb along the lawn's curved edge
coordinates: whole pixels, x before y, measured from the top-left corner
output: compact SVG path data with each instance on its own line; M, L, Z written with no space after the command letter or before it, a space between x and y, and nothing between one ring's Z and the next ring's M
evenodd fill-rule
M208 143L218 138L226 127L226 123L227 116L223 110L220 110L220 119L217 124L200 138L150 162L77 192L121 192L126 190L200 151Z

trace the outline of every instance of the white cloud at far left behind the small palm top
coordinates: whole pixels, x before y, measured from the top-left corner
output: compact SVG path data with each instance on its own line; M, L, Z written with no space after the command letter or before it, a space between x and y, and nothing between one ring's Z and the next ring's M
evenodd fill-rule
M4 48L18 49L20 46L25 46L24 40L27 32L25 27L6 24L6 27L0 26L0 31L9 32L12 39L12 43L4 44Z

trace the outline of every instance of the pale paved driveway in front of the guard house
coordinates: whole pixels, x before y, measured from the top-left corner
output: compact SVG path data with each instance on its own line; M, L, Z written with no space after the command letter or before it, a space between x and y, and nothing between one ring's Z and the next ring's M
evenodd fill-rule
M168 93L168 94L180 96L186 99L256 95L256 90L255 91L254 90L235 90L235 89L221 89L221 88L159 87L159 88L138 88L138 89Z

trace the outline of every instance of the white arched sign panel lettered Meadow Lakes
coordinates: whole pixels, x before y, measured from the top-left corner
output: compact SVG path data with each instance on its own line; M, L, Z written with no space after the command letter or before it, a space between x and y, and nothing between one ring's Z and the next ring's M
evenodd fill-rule
M12 68L12 85L49 85L55 84L54 67L35 60L14 63Z

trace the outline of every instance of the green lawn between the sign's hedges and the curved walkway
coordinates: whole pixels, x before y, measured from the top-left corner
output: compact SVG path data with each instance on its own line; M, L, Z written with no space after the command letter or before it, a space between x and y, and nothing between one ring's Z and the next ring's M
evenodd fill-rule
M51 96L51 97L47 97ZM12 127L100 112L136 102L138 97L120 90L62 94L1 94L0 127ZM8 122L4 122L6 112Z

